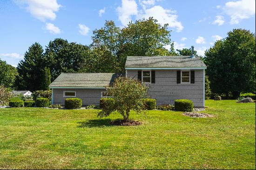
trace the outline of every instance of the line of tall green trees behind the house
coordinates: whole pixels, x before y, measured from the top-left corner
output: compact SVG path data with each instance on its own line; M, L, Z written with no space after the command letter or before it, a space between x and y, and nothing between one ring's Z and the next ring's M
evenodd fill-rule
M102 28L93 31L89 46L58 38L50 41L45 50L37 42L30 46L17 69L1 61L0 71L10 72L0 75L0 85L42 90L61 72L125 72L127 56L188 56L191 52L187 48L174 49L168 24L162 26L153 18L136 20L123 28L106 21ZM234 29L227 38L216 41L201 59L208 66L207 91L234 96L255 92L254 33Z

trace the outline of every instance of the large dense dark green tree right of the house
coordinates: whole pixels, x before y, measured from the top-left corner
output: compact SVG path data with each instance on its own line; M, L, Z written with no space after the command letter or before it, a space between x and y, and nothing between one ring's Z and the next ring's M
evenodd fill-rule
M206 73L213 93L233 98L240 92L255 92L255 34L234 29L205 52Z

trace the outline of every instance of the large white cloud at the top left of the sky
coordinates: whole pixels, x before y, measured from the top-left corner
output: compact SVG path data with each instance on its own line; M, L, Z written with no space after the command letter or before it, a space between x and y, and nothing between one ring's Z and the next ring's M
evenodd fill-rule
M41 21L55 20L55 12L59 11L61 5L57 0L20 0L20 4L27 4L26 9L35 18Z

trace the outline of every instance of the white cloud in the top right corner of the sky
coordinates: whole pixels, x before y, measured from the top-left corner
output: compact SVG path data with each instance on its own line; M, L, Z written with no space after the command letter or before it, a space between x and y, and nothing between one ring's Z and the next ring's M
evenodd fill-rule
M231 17L230 24L238 24L255 15L255 5L255 0L229 1L223 9Z

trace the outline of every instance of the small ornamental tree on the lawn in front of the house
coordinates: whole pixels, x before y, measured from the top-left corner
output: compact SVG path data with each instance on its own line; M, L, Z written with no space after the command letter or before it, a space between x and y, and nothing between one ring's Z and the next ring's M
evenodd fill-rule
M107 87L108 95L115 100L113 107L104 107L98 117L107 117L117 111L124 120L129 119L130 111L141 113L144 109L142 98L146 97L148 86L134 78L119 77L113 85Z

